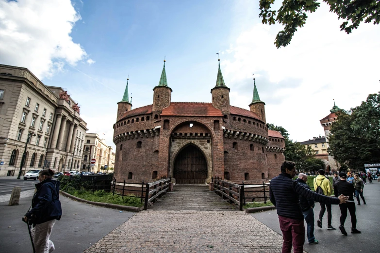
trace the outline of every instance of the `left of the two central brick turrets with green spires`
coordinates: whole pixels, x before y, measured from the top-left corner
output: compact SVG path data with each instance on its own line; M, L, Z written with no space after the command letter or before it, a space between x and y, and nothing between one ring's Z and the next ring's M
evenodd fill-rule
M152 111L162 111L164 108L170 106L172 89L167 86L166 72L165 72L165 60L164 68L161 73L160 82L153 88L153 107Z

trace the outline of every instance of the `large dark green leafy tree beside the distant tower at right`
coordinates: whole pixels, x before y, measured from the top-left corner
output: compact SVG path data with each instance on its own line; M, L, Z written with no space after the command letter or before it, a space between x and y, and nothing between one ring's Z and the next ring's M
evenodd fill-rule
M380 163L380 92L338 114L330 129L329 146L329 154L350 169Z

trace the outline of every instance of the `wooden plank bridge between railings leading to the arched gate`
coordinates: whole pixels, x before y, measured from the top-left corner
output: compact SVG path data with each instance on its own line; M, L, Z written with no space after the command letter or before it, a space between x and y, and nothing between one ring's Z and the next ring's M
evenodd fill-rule
M149 210L196 210L196 211L233 211L235 207L223 200L208 186L175 185L173 191L166 193Z

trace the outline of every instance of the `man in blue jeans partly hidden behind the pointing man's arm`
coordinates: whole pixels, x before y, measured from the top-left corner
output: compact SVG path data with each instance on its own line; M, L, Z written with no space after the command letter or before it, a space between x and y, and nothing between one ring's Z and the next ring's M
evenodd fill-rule
M300 183L303 187L310 189L310 187L306 184L307 175L300 173L298 174L297 182ZM299 205L302 207L303 218L305 218L307 224L306 235L309 241L309 244L317 244L318 240L315 240L314 237L314 200L309 198L305 198L299 195Z

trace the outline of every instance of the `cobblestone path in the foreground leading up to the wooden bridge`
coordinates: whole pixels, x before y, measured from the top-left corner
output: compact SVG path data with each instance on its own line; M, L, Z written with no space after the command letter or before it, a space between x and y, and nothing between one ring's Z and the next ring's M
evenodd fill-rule
M282 237L246 212L142 211L83 253L273 253Z

